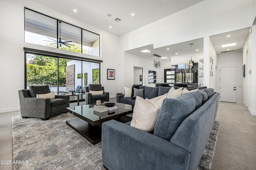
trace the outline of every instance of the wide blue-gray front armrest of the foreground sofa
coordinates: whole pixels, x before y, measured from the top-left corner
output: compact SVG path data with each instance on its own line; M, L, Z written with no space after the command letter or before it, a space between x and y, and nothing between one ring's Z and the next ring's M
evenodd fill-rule
M161 137L124 123L102 124L102 163L108 169L186 170L190 153Z

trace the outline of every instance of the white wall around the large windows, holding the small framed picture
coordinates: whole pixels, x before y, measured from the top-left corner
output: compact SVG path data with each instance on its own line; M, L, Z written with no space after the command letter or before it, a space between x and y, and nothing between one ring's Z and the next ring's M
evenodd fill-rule
M36 10L53 18L66 21L67 23L71 23L78 27L99 33L101 35L102 57L94 57L60 49L44 47L41 45L24 43L24 7ZM106 92L110 92L110 97L116 96L116 93L118 92L118 84L120 82L119 74L121 69L121 67L118 65L119 52L116 50L119 47L118 36L53 10L52 8L48 8L32 0L1 0L0 8L0 16L2 16L0 27L0 89L4 89L2 90L0 98L0 113L20 109L18 90L24 89L23 47L102 60L102 86L104 86ZM116 70L115 80L107 81L107 68Z

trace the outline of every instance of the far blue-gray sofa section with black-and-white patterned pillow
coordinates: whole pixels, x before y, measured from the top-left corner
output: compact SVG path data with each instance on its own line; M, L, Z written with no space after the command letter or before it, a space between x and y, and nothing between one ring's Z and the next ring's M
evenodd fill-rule
M181 88L178 86L173 86L175 89L177 88ZM132 86L132 97L133 97L133 88L138 88L138 89L144 89L144 99L148 98L148 99L152 99L155 98L157 96L161 96L164 95L166 93L168 93L168 91L172 88L172 87L163 87L163 86L158 86L158 87L148 87L148 86L138 86L138 85L133 85ZM204 87L198 87L199 89L204 89L207 88L206 86ZM197 88L186 88L188 90L194 90ZM134 106L135 104L135 98L130 98L130 97L124 97L124 94L119 94L116 96L116 102L118 103L123 103L123 104L130 104L132 106Z

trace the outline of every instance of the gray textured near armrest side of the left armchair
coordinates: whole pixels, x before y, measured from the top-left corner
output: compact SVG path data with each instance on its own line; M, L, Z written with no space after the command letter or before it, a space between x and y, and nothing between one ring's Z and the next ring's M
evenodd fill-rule
M24 117L49 118L51 116L50 98L21 98L20 114Z

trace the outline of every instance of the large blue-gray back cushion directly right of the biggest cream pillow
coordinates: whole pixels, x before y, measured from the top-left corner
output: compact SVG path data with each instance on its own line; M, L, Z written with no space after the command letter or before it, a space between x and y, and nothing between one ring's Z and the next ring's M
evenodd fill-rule
M176 99L164 99L156 120L154 135L170 141L182 121L193 113L195 108L196 101L189 95L184 94Z

